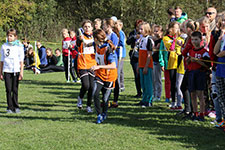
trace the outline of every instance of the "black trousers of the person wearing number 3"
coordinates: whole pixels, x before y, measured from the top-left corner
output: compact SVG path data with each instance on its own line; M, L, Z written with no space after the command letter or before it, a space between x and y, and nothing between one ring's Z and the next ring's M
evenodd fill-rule
M7 109L15 110L19 108L18 104L18 87L19 87L19 73L4 73Z

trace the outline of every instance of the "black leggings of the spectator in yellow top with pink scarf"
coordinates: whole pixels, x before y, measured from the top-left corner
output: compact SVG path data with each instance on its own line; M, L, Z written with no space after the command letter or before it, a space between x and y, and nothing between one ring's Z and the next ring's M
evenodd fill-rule
M175 102L175 95L176 95L176 69L169 70L170 72L170 91L171 91L171 98L172 102Z

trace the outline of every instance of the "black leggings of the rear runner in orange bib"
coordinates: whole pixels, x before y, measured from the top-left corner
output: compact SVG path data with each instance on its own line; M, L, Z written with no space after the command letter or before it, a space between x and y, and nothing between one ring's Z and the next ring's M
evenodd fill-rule
M92 93L94 87L94 72L90 69L87 70L79 70L79 75L81 78L81 89L80 89L80 98L83 99L85 93L88 91L87 96L87 106L91 106L92 101Z

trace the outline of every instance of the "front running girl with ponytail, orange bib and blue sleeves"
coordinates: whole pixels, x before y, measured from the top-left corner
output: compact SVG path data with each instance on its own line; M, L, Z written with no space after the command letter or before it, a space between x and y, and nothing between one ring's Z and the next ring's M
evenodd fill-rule
M97 112L97 123L102 123L107 116L108 100L111 90L115 87L118 60L114 53L116 47L112 41L107 40L106 34L102 29L95 30L93 36L96 50L95 59L97 62L97 65L91 68L95 71L93 97ZM102 91L103 94L102 110L99 99L100 91Z

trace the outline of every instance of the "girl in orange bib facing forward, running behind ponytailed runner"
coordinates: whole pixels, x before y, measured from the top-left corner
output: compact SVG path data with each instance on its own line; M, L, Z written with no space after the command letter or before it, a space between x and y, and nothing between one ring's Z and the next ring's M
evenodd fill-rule
M91 67L96 65L95 50L93 46L94 39L92 36L92 22L90 20L83 21L82 28L84 33L80 34L80 37L77 39L77 69L82 83L80 94L78 96L77 107L82 108L82 100L85 93L88 91L87 112L90 113L92 112L91 101L95 77L94 71Z

